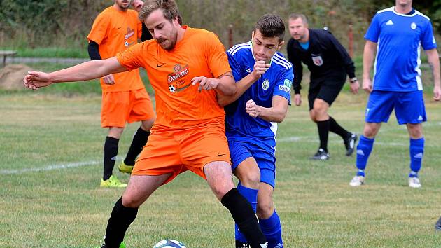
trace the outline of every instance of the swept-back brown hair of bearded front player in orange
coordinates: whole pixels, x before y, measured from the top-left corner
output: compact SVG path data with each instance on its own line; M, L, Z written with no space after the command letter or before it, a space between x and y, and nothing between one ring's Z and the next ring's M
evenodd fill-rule
M162 9L162 13L164 13L164 17L172 22L174 18L178 18L179 24L182 25L182 17L181 13L179 13L179 8L176 5L174 0L146 0L144 1L144 5L139 11L139 19L144 20L150 15L153 11L157 9Z

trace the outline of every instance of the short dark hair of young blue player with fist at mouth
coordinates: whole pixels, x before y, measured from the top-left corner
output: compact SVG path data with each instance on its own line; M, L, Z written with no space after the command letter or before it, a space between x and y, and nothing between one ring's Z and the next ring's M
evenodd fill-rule
M255 23L254 32L259 30L266 38L279 37L279 41L283 41L285 36L285 24L279 15L265 14Z

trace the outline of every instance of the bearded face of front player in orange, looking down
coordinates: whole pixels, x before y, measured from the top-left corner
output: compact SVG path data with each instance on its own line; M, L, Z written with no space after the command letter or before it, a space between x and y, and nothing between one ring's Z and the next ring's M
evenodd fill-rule
M180 28L178 18L170 22L164 16L162 9L153 11L144 20L148 31L165 50L172 50L178 40L178 30Z

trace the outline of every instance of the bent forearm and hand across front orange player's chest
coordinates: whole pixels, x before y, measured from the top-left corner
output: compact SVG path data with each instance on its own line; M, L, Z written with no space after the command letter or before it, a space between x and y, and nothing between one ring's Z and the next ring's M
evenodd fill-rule
M222 74L218 78L207 78L205 76L196 76L191 80L193 85L199 83L198 90L216 90L218 95L232 96L237 92L235 78L231 71Z

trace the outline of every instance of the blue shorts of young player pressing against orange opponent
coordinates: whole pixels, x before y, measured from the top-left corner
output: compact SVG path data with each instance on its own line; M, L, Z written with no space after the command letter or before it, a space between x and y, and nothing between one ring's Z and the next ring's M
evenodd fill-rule
M265 142L229 137L228 146L230 146L233 171L246 158L253 157L260 169L260 181L274 188L276 181L276 141L274 138Z

